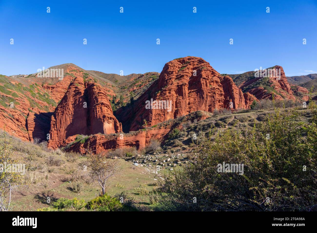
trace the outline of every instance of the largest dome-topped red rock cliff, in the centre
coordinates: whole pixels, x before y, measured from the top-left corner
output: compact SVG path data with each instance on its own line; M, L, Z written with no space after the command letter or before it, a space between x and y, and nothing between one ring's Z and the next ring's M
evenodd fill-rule
M128 132L198 110L249 108L256 98L247 97L229 76L220 75L202 58L188 56L166 63L159 79L132 106L118 109L116 116ZM149 107L151 99L159 104Z

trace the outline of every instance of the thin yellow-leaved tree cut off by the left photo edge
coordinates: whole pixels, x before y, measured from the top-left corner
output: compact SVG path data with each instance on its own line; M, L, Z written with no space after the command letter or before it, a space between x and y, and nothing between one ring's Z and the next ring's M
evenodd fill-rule
M0 211L9 211L11 203L11 194L18 186L23 184L23 176L21 173L4 171L4 165L17 164L17 161L12 159L11 140L7 141L7 134L3 132L3 141L0 144ZM12 138L11 138L12 139Z

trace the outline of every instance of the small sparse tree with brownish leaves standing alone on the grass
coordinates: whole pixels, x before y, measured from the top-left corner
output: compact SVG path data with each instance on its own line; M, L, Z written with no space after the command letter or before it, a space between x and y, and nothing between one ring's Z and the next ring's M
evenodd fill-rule
M106 193L106 187L113 177L119 171L118 160L107 160L103 154L90 154L90 175L94 180L97 180L101 189L102 195Z

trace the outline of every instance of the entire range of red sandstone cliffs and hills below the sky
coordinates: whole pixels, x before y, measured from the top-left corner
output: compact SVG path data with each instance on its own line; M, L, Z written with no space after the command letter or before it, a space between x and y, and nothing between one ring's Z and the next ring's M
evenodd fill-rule
M169 61L161 73L105 74L72 63L64 77L0 75L0 126L25 141L48 141L48 147L95 153L120 147L144 148L151 140L164 143L177 119L215 110L250 109L262 99L307 101L307 88L280 76L255 77L255 72L219 74L202 58ZM120 98L119 98L120 97ZM146 107L150 101L150 107ZM169 108L155 107L155 101ZM167 102L166 102L167 101ZM13 104L13 105L12 105ZM85 135L78 141L78 135Z

